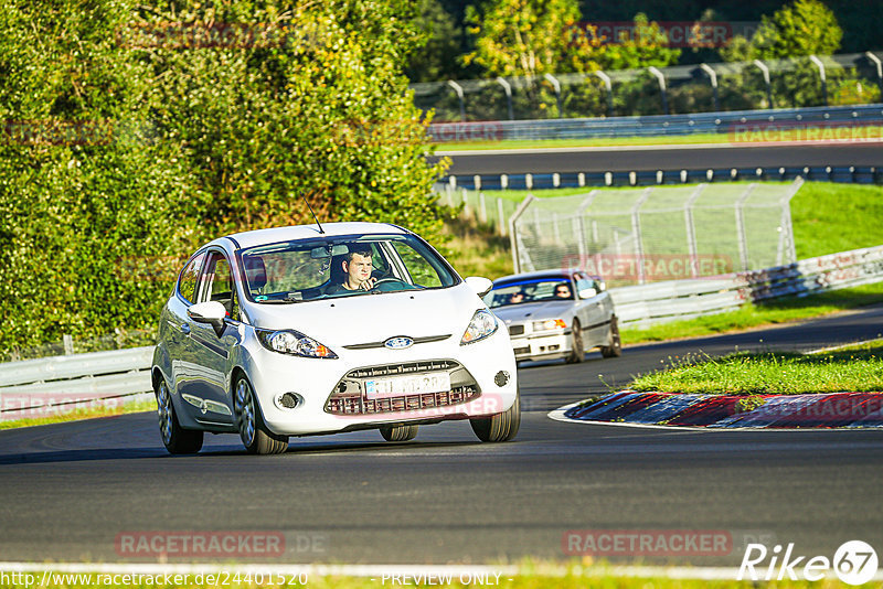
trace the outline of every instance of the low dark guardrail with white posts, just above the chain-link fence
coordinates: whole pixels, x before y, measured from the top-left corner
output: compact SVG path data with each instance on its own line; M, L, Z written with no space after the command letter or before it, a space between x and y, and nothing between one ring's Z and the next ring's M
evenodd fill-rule
M562 172L549 174L449 175L436 190L549 190L582 186L651 186L732 181L809 181L883 184L883 167L806 165L716 168L692 170L632 170L629 172Z

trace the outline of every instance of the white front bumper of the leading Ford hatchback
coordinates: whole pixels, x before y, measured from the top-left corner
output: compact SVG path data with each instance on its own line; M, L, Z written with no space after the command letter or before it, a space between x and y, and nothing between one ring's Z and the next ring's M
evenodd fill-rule
M509 409L518 392L515 358L504 329L464 346L451 336L407 350L334 351L340 355L338 360L288 356L259 344L251 351L244 368L258 397L264 421L273 432L306 436L386 424L488 416ZM354 373L415 363L432 364L425 372L446 370L440 363L456 364L448 366L451 389L382 400L366 398L358 387L344 386L345 394L338 394L342 383L358 381L359 374L353 377ZM498 377L501 372L508 375L504 384L499 384L503 381ZM291 409L280 407L275 399L285 393L296 394L302 403Z

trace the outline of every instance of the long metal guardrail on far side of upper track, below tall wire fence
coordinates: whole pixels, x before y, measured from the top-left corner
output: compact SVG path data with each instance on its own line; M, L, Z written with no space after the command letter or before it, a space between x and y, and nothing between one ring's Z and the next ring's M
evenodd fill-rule
M650 115L581 119L532 119L467 122L434 122L428 133L433 141L540 141L549 139L609 139L615 137L684 136L695 133L736 133L745 126L883 125L883 104L776 108L695 113L691 115ZM442 148L444 149L444 148Z

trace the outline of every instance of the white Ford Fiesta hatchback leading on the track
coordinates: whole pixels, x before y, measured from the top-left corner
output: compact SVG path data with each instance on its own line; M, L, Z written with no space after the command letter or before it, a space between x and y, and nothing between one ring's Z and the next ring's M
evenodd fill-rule
M162 442L193 453L238 432L252 453L289 436L469 419L482 441L521 421L509 333L424 239L377 223L221 237L184 265L152 363Z

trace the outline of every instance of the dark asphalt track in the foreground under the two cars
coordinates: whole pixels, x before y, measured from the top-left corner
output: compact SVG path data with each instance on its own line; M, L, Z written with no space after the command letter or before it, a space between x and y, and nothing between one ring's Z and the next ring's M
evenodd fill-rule
M170 457L152 414L0 431L0 560L153 561L115 543L141 532L285 535L283 556L175 561L479 564L566 557L571 529L724 531L731 554L646 563L737 567L748 539L833 556L883 548L883 431L709 432L564 424L550 409L704 351L809 350L876 338L883 307L797 325L597 353L519 371L518 438L482 445L466 422L411 442L374 431L292 440L252 457L216 436ZM620 560L613 558L613 560ZM636 557L624 560L635 561Z

